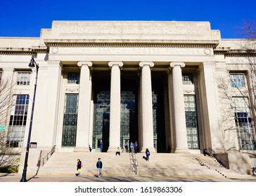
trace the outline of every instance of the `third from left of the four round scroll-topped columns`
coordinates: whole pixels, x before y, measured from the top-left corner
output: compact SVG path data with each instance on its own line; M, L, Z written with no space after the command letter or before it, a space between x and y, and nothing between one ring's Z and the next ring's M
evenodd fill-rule
M142 120L142 148L145 152L155 152L153 137L153 105L152 105L152 86L151 86L151 67L153 62L140 62L141 66L141 120Z

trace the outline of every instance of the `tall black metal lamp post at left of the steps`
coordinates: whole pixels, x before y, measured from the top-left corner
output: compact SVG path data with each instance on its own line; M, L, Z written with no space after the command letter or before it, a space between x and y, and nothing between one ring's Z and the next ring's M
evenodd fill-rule
M33 97L33 102L32 102L32 111L31 111L31 117L30 117L30 130L28 132L28 137L27 137L27 149L26 149L26 155L25 155L25 162L24 162L24 169L23 169L23 176L20 179L20 182L27 182L26 176L27 176L27 160L28 160L28 153L30 151L30 137L31 137L31 131L32 131L32 123L33 123L33 114L34 114L34 100L36 97L36 91L37 91L37 76L38 76L38 69L39 69L39 64L35 62L34 57L30 60L30 64L28 65L31 68L36 66L36 80L34 83L34 97Z

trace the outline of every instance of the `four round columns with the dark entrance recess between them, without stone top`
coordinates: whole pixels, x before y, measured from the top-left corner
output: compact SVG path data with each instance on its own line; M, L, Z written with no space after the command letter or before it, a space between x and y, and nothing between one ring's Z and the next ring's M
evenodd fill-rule
M124 141L137 141L140 146L139 151L142 152L146 151L146 148L153 152L166 152L168 146L176 144L174 153L189 153L181 74L181 69L185 66L184 62L171 62L169 66L166 64L162 68L153 71L154 77L162 83L162 86L157 85L158 88L163 89L161 95L156 94L155 96L162 96L162 100L165 100L165 104L160 109L153 106L153 104L157 105L158 102L162 102L162 100L153 102L152 83L155 78L151 78L151 69L154 62L139 62L137 65L133 64L133 68L129 68L129 65L125 62L108 62L101 64L101 68L96 64L95 69L93 62L90 61L78 62L77 65L80 78L79 83L75 84L79 87L76 145L73 146L75 151L87 152L89 145L97 151L98 142L102 140L106 152L115 152L117 147L123 148ZM107 65L108 69L104 68ZM104 69L105 71L103 71ZM165 78L160 80L158 75ZM168 84L167 78L170 76L172 76L173 85ZM97 80L100 82L98 83ZM128 82L126 82L127 80ZM128 96L124 94L127 93L127 88L129 94L133 94L134 101L124 101L124 97ZM131 91L131 89L134 90ZM101 92L104 92L104 95ZM176 97L171 100L168 98L168 94L176 94ZM63 94L63 96L66 96L66 94ZM103 97L97 98L98 96ZM97 103L97 99L101 99L101 101ZM170 104L173 104L174 107L169 106ZM134 108L131 109L132 106ZM99 113L98 110L103 108L104 111ZM155 116L153 115L153 109L155 110ZM165 113L161 120L156 116L159 111ZM172 116L172 113L176 114L173 116L173 125L163 125L161 132L159 132L157 130L158 124L165 123L170 118L169 116ZM135 127L132 125L133 123L135 123ZM90 133L91 130L92 134ZM159 138L162 140L163 137L158 138L158 134L170 136L171 132L175 136L175 138L172 138L173 141L159 140ZM163 143L159 149L157 149L157 142ZM173 144L171 144L172 142ZM60 148L65 147L68 146L60 146Z

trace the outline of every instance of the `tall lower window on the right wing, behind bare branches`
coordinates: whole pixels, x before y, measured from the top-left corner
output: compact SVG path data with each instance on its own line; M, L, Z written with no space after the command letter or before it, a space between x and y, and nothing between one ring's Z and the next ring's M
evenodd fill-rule
M255 150L255 137L248 97L233 97L234 118L240 150Z

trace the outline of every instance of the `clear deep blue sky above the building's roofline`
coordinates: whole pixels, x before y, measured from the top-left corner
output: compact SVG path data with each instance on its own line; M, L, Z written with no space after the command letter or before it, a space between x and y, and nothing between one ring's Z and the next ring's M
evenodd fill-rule
M243 21L256 20L256 0L2 0L0 36L39 37L53 20L208 21L222 38L241 38Z

